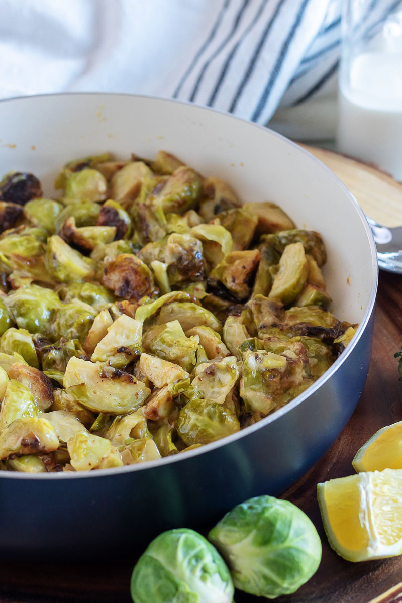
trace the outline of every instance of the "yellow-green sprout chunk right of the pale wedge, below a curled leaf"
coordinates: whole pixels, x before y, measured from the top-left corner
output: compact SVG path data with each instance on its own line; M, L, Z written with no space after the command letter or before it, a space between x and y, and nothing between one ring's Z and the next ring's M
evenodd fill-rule
M206 353L198 342L184 335L178 320L161 325L149 341L149 350L163 360L178 364L187 373L192 373L196 364L207 359Z

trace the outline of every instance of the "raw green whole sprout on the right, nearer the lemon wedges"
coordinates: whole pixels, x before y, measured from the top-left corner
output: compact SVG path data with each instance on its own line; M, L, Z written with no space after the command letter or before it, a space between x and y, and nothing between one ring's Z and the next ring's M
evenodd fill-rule
M309 517L272 496L237 505L208 537L227 561L234 586L267 599L294 593L321 561L321 540Z

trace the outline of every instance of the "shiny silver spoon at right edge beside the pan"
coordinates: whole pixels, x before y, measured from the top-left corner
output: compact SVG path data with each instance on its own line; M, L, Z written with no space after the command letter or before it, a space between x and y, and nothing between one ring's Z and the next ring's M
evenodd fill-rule
M378 266L402 274L402 226L388 228L372 218L367 221L377 246Z

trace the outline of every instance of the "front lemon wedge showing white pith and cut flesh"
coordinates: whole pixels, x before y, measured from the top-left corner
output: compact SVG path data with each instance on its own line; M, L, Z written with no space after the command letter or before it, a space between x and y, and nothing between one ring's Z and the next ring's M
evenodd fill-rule
M363 472L318 484L331 547L348 561L402 554L402 469Z

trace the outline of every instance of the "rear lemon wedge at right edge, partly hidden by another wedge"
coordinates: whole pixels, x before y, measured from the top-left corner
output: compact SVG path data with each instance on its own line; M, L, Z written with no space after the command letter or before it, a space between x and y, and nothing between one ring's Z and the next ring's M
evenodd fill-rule
M387 425L375 432L357 450L352 465L357 473L402 469L402 421Z

